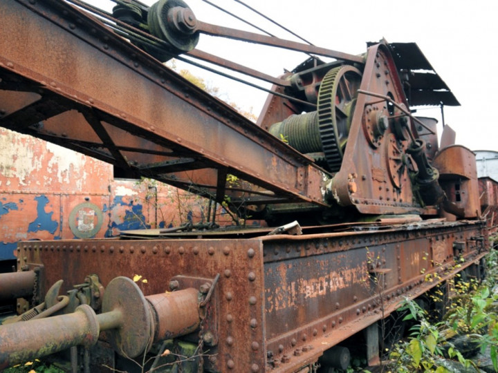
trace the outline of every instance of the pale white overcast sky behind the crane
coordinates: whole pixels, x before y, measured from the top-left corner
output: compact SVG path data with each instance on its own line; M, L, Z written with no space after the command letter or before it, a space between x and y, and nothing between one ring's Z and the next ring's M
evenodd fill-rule
M86 0L111 8L108 0ZM255 16L234 0L211 0L237 15L257 23L284 39L296 40L284 30ZM153 0L142 0L150 5ZM416 42L434 70L457 97L461 106L445 107L445 122L457 131L457 143L472 150L498 151L498 72L495 37L498 35L498 1L445 0L246 0L248 5L282 23L316 46L360 54L367 41L384 37L389 42ZM248 28L202 0L186 0L197 19L234 28ZM271 75L291 70L306 55L276 48L259 47L201 35L198 48ZM191 68L226 98L258 114L266 98L228 79ZM264 85L261 82L258 84ZM269 86L266 86L269 88ZM418 111L435 116L440 111ZM441 132L441 127L439 127Z

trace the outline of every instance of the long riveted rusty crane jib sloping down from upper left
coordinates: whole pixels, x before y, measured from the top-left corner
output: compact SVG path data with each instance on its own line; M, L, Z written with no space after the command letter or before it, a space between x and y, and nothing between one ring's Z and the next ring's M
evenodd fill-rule
M216 169L228 169L275 197L323 204L315 187L322 170L311 160L95 19L55 0L4 1L0 14L3 32L18 35L18 45L9 41L0 48L1 126L185 189L201 184L214 194ZM19 84L35 99L12 93ZM195 160L194 170L176 174L189 169L176 165L186 158ZM156 166L164 169L156 173Z

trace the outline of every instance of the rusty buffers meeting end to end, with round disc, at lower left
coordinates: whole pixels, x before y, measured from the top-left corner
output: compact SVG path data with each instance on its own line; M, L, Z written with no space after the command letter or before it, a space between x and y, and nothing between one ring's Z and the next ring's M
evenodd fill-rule
M75 345L90 347L100 331L118 354L134 358L152 342L193 332L200 325L199 293L189 288L143 296L136 283L117 277L107 285L102 313L80 305L73 314L0 325L0 370Z

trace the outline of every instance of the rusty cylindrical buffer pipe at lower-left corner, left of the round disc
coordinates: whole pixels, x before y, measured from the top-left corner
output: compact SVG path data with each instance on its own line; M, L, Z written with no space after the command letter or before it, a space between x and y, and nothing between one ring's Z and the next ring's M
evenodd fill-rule
M0 327L0 370L54 354L75 345L90 347L100 327L89 305L80 305L68 315L53 316Z

